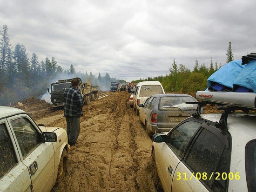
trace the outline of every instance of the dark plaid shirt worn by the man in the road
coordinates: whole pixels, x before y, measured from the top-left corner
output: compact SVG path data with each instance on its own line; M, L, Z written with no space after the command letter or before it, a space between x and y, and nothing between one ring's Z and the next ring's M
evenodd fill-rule
M76 87L70 86L63 94L65 100L64 117L83 116L84 101L80 91Z

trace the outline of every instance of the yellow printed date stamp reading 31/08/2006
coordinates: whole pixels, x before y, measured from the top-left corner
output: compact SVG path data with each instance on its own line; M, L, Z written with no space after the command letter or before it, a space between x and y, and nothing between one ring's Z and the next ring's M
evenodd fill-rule
M193 176L195 176L195 178L197 180L211 180L211 179L215 179L215 180L239 180L240 179L240 175L239 172L233 173L233 172L212 172L211 174L207 174L207 172L192 172L192 175L190 177L187 176L187 172L177 172L177 180L191 180L193 178Z

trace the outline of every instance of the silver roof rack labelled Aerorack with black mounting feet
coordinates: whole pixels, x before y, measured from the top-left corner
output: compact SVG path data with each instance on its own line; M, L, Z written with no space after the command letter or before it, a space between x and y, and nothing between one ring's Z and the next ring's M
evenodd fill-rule
M222 129L227 129L229 114L237 110L241 110L244 113L256 110L256 93L198 91L195 98L201 101L187 102L198 104L197 110L192 116L201 119L200 112L203 106L208 104L217 105L217 109L223 110L223 112L219 122L216 122L216 127Z

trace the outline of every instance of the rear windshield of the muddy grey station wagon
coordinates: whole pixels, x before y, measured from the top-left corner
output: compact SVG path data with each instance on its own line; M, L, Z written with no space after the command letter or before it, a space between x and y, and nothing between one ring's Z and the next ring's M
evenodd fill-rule
M186 104L186 102L195 102L191 97L161 97L159 99L159 110L173 110L174 108L181 110L196 110L197 104Z

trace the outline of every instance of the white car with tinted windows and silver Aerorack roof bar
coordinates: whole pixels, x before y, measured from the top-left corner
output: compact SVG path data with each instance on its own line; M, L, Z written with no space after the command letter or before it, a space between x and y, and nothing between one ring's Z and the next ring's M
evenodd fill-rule
M256 93L201 91L196 98L201 106L220 104L223 113L195 113L153 136L155 186L165 192L255 192L256 115L241 110L256 110Z

